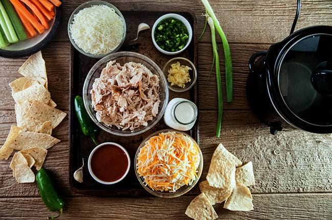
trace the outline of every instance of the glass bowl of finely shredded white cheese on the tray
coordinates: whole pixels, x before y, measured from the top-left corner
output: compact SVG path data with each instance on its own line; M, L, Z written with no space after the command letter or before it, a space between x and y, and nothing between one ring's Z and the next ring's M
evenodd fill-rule
M86 2L70 16L68 37L85 56L103 58L122 46L126 38L126 21L110 3Z

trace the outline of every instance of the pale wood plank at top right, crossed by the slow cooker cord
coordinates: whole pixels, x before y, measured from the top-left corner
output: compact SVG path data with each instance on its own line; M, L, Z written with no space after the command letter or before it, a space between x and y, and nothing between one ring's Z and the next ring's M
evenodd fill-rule
M216 1L212 5L229 42L275 43L289 35L296 1ZM296 30L332 24L332 2L302 1ZM210 41L209 34L202 41Z

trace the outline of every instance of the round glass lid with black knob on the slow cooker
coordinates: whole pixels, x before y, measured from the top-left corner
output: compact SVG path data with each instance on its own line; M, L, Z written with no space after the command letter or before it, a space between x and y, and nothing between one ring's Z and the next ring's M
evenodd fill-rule
M301 38L282 53L277 66L283 102L300 120L332 125L332 35Z

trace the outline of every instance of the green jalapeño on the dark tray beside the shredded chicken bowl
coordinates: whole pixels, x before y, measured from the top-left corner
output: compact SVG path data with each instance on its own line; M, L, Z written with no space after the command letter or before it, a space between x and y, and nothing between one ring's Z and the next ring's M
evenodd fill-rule
M75 97L75 112L83 134L85 136L90 136L93 143L98 145L96 137L94 136L98 131L98 127L96 124L93 123L93 121L90 119L89 115L87 114L84 107L83 98L81 96Z

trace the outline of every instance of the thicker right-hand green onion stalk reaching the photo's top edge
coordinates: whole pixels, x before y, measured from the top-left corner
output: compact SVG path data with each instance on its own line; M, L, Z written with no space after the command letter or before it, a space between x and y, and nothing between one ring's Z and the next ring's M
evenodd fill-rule
M207 10L208 14L214 21L214 25L216 27L217 32L219 33L221 40L223 42L224 47L224 55L225 55L225 78L226 78L226 95L227 95L227 102L233 101L233 66L232 66L232 59L230 56L230 49L228 45L227 38L220 26L220 23L212 10L209 2L207 0L201 0L205 9Z

